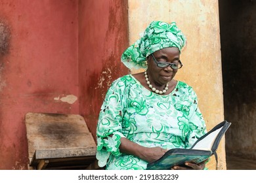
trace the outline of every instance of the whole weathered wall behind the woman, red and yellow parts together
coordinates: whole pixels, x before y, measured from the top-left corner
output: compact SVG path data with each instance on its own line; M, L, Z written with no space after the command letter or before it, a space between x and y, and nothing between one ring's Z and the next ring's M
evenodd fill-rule
M10 33L2 39L9 44L0 44L7 46L0 50L0 169L27 169L27 112L82 114L95 136L108 87L128 73L120 62L123 50L156 19L176 21L185 33L188 46L177 79L198 93L209 129L221 122L218 18L214 0L0 0L0 31Z

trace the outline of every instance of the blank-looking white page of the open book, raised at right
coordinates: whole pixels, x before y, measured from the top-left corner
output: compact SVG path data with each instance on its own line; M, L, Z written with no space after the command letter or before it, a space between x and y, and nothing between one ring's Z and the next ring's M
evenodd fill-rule
M211 146L213 146L213 142L215 141L217 135L221 131L223 127L213 131L209 135L207 135L204 139L197 142L197 144L192 149L198 149L198 150L211 150Z

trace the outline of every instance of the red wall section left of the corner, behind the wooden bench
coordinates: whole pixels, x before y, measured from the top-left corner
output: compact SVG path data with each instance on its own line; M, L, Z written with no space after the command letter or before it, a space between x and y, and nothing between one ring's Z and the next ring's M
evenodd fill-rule
M0 48L0 169L27 169L25 114L79 110L77 0L1 0L2 33L3 24L10 39Z

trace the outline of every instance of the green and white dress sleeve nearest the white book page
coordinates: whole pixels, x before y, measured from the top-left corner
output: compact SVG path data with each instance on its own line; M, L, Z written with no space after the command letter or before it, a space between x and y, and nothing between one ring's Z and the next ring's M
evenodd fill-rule
M198 97L194 90L190 93L190 113L188 115L188 126L190 133L187 137L186 148L190 148L206 131L205 121L198 108Z

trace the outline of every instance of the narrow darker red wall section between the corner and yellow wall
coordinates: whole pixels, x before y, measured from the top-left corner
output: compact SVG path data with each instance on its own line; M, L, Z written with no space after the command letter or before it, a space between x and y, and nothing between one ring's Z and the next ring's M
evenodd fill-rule
M80 113L94 137L110 84L128 73L120 61L127 31L127 1L79 1Z

